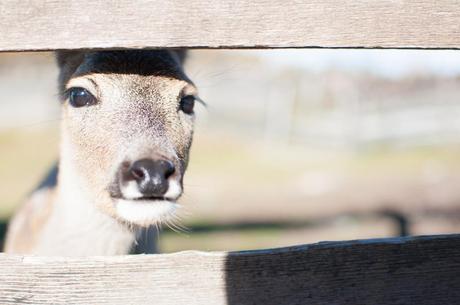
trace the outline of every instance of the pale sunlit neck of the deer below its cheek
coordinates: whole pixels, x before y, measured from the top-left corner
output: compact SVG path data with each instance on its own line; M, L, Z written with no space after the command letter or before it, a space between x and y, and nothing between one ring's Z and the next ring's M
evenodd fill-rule
M66 154L61 154L58 183L49 221L43 229L36 254L121 255L128 254L136 232L100 211L81 182Z

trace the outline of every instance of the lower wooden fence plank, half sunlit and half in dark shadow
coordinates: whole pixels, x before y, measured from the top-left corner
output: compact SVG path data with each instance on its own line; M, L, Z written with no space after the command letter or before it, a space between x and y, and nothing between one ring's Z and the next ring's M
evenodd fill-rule
M460 235L262 251L0 255L0 304L459 304Z

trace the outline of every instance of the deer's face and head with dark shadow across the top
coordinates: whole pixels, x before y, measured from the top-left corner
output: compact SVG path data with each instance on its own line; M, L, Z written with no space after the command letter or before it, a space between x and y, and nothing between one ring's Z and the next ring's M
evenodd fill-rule
M57 59L59 183L67 179L123 222L148 226L171 217L183 190L197 94L179 53L61 52Z

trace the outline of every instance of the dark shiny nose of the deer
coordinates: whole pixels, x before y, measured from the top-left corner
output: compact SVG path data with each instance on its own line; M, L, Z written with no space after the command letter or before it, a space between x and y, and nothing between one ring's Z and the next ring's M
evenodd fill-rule
M174 171L171 161L142 159L135 161L123 178L125 182L134 180L142 196L160 197L168 190L168 178Z

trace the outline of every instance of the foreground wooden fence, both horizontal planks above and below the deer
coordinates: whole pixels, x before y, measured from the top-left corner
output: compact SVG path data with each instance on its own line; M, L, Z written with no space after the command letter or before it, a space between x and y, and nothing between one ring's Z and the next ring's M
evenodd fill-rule
M0 51L159 47L459 49L460 2L0 2ZM460 235L229 253L0 255L0 304L18 303L460 304Z

